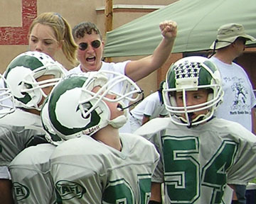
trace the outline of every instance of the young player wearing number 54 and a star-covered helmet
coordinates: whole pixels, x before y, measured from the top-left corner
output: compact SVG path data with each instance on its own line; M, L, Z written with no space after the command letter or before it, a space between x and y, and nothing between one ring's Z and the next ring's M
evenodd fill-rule
M205 57L185 57L166 74L170 118L149 121L135 133L154 143L160 161L150 203L231 203L235 184L256 176L256 137L238 123L214 118L223 98L218 68Z

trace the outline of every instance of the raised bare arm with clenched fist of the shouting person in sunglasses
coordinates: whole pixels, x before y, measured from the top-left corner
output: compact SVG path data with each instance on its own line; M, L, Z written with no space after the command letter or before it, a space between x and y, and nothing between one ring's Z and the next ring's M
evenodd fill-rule
M159 69L169 58L177 35L177 23L175 21L164 21L159 25L163 39L156 47L153 55L140 60L128 62L125 74L134 81L139 81L156 69Z

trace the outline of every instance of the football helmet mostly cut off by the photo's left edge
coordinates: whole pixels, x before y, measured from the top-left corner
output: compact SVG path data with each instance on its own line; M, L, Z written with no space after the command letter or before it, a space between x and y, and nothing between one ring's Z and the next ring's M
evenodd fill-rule
M14 96L11 94L11 89L4 79L3 75L0 74L0 118L4 115L13 113L15 111Z

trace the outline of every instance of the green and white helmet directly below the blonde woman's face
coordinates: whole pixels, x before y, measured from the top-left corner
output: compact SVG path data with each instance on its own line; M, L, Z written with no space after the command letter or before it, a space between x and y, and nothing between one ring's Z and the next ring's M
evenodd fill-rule
M53 75L54 79L37 81ZM41 111L38 103L46 94L42 88L54 86L65 75L64 68L43 52L28 51L18 55L8 65L4 77L14 95L16 107Z

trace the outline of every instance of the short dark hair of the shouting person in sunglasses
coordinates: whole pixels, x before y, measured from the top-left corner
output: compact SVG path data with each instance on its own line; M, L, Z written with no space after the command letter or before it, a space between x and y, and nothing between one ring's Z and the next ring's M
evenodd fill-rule
M92 32L95 32L96 34L100 35L100 40L102 40L102 34L100 33L100 30L97 28L95 23L91 23L91 22L78 23L78 25L76 25L72 30L73 38L75 40L83 38L85 34L91 35Z

